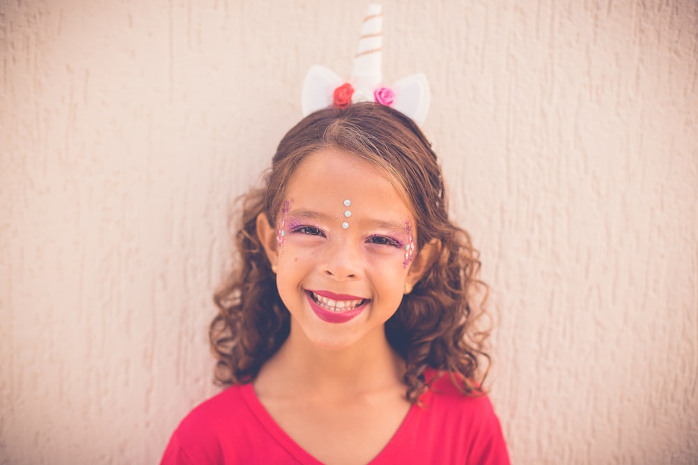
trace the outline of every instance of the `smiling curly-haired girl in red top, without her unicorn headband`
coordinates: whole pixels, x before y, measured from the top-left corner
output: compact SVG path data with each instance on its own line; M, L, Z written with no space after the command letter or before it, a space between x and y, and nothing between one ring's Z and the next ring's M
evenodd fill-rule
M412 119L375 102L307 116L236 241L210 328L230 387L163 464L509 463L478 378L487 286Z

